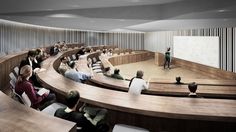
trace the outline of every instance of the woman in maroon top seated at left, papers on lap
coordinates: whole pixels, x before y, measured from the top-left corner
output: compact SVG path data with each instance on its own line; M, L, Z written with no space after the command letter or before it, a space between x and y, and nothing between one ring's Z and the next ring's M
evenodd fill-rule
M15 91L19 95L22 95L25 92L31 102L31 107L35 109L39 108L40 110L42 110L43 108L53 103L56 100L56 96L55 94L51 94L49 92L46 92L43 95L39 95L32 83L29 82L29 78L31 76L32 67L29 65L23 66L20 70L20 75L16 82Z

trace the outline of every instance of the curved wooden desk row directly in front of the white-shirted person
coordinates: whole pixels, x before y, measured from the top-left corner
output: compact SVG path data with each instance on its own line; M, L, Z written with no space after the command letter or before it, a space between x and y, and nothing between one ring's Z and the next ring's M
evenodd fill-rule
M94 74L90 79L93 83L113 90L128 91L129 81L117 80L101 74ZM189 94L188 85L150 83L149 89L143 94L186 96ZM197 93L206 98L236 99L236 86L198 85Z

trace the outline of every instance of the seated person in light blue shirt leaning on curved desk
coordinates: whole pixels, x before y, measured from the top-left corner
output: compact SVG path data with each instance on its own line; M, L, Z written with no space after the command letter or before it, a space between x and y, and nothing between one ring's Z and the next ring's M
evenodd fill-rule
M90 73L84 73L81 71L77 71L76 70L76 64L75 62L71 61L69 64L71 69L68 69L65 72L65 77L74 80L76 82L85 82L86 80L88 80L89 78L91 78L92 74Z

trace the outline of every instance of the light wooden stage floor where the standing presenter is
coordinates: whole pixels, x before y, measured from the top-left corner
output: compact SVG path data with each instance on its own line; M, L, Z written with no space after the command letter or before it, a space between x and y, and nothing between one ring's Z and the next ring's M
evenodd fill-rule
M154 63L154 59L150 59L147 61L141 61L130 64L123 64L115 66L120 69L120 74L124 77L134 77L136 75L137 70L144 71L144 79L148 80L149 78L174 78L180 76L181 78L189 78L189 79L214 79L197 72L193 72L190 70L185 70L181 67L176 67L171 65L171 69L165 69L163 66L157 66Z

